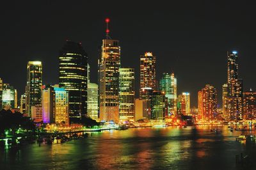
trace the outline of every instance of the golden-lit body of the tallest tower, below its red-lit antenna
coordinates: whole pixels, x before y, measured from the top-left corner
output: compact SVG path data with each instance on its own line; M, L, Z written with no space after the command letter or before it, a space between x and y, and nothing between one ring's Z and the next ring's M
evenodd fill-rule
M102 40L98 61L100 121L119 122L120 51L118 40Z

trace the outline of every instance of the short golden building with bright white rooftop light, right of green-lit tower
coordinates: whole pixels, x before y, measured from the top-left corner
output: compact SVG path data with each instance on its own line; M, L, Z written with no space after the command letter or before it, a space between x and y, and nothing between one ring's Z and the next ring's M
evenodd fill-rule
M178 97L177 108L179 114L190 114L190 95L188 92L184 92Z

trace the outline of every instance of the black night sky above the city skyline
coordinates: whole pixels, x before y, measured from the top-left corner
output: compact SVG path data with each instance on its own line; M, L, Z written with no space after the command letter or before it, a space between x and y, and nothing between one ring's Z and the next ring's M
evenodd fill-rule
M136 70L137 89L140 55L151 51L157 79L174 70L178 92L190 92L192 106L207 83L217 88L221 104L227 50L239 51L244 89L256 88L255 8L253 1L1 1L0 77L20 96L28 61L39 60L44 84L58 83L58 52L73 40L88 52L96 82L98 47L109 17L110 35L120 40L122 66Z

